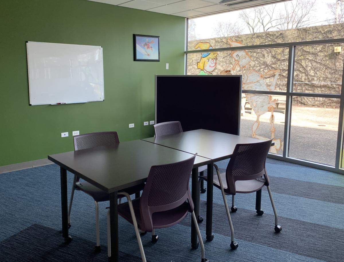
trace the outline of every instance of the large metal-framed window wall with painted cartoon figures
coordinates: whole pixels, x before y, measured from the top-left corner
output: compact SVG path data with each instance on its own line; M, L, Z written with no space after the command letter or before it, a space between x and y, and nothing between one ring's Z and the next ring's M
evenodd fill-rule
M241 135L273 139L271 157L344 173L344 3L335 2L189 20L186 73L242 75Z

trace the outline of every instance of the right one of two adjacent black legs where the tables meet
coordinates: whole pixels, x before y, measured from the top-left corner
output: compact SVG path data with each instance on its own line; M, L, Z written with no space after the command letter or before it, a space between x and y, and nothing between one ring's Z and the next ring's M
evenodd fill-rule
M213 173L214 164L208 164L207 169L207 221L206 221L206 238L207 241L214 239L213 235Z

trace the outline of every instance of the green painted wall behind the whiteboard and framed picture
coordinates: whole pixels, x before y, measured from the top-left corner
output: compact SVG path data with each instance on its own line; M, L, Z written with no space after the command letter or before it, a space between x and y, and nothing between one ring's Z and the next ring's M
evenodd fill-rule
M74 130L152 136L154 75L183 74L184 21L87 0L1 1L0 166L71 151ZM160 36L160 62L133 61L133 34ZM25 41L103 46L105 101L29 106Z

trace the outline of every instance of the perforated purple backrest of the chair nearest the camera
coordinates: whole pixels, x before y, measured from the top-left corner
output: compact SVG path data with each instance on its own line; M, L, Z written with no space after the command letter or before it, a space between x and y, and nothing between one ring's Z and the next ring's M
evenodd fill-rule
M182 162L156 167L148 189L148 206L164 206L181 200L188 191L194 161L195 157L192 157ZM145 191L146 188L143 192Z

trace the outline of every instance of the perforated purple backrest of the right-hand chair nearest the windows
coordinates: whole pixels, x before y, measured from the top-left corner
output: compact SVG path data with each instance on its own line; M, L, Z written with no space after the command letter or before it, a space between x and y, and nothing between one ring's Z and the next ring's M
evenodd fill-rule
M228 163L233 176L255 175L265 168L265 160L271 146L271 140L252 143L238 144ZM227 169L228 169L227 167Z

